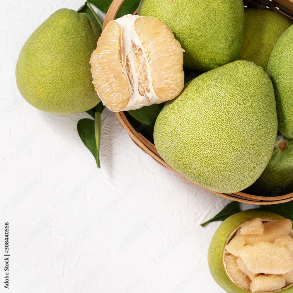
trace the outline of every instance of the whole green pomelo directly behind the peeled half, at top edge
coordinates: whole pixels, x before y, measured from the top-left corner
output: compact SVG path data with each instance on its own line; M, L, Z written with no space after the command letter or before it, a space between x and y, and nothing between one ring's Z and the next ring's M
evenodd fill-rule
M168 25L180 42L183 66L205 72L237 60L244 30L242 0L142 0L137 14Z

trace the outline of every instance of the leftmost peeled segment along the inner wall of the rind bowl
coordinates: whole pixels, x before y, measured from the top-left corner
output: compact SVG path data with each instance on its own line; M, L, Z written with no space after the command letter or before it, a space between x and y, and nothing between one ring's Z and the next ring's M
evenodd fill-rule
M248 276L239 269L236 259L237 257L232 254L225 254L224 262L227 273L239 287L249 290L251 281Z

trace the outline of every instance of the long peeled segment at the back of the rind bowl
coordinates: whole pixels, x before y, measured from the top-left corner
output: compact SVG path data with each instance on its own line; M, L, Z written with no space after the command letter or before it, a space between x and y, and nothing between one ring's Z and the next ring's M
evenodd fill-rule
M253 245L263 241L272 243L282 236L289 235L292 230L292 221L289 219L269 221L263 223L263 225L265 229L262 235L243 235L240 232L240 228L237 230L236 236L242 236L245 240L245 245Z

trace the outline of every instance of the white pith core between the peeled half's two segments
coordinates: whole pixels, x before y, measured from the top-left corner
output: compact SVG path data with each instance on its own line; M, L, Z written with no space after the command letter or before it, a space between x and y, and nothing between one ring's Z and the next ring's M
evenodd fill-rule
M139 17L142 16L127 14L115 20L121 28L120 57L130 92L130 99L123 111L135 110L142 106L159 104L165 101L158 98L154 92L149 60L134 28L134 21ZM141 58L144 59L144 69L147 71L147 76L145 77L147 77L147 80L143 76L140 78L138 57L140 60ZM142 66L143 63L140 64ZM147 87L147 84L149 87Z

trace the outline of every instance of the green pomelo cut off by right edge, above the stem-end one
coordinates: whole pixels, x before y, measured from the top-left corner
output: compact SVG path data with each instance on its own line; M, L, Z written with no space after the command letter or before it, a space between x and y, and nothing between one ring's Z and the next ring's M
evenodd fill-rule
M277 40L267 73L275 89L279 131L293 138L293 25Z

